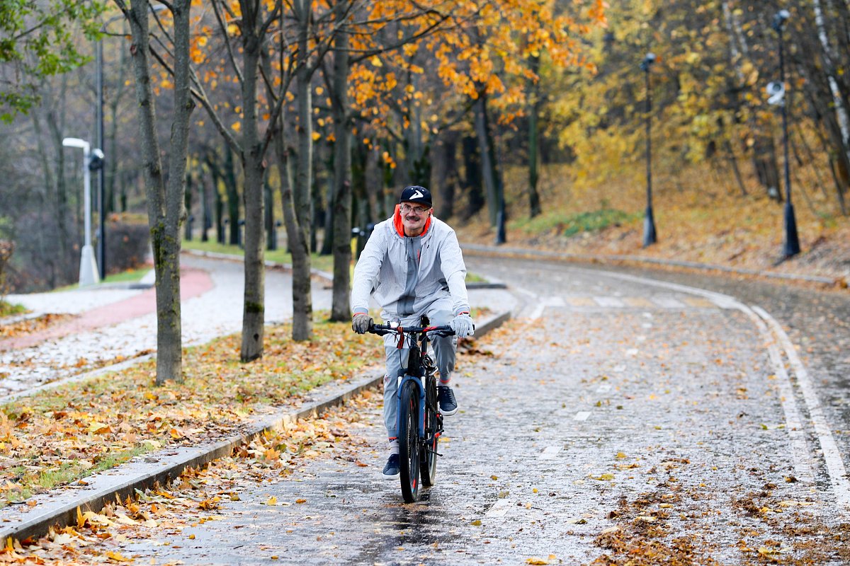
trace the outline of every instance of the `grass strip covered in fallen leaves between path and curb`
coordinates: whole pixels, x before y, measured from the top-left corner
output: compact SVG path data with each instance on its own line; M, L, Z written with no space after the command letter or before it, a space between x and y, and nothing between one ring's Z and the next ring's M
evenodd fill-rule
M352 378L380 360L373 336L316 322L293 342L270 328L265 356L239 359L239 336L184 351L184 383L155 386L148 361L0 408L0 506L112 468L165 446L196 446L235 434L254 415L297 406L305 392Z

